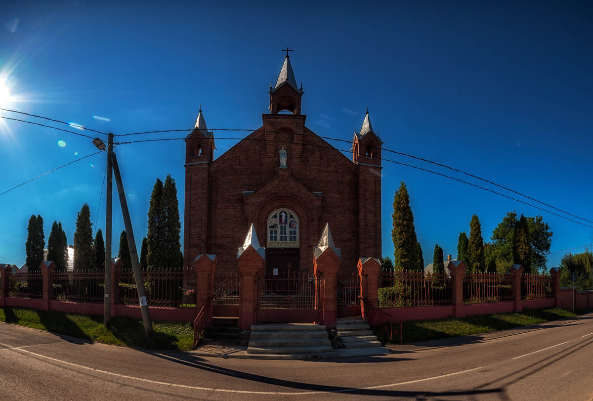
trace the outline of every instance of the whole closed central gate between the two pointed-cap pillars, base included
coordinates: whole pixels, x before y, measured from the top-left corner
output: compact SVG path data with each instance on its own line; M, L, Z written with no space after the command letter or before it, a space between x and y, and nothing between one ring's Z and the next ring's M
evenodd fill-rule
M257 321L261 323L311 323L319 320L316 294L323 278L315 282L309 272L279 272L258 282Z

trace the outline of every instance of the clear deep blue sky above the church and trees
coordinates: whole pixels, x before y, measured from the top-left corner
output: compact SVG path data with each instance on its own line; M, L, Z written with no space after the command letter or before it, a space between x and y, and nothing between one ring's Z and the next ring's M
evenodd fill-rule
M368 106L384 147L593 220L591 5L385 3L11 2L0 16L7 108L126 133L190 128L202 103L208 126L257 129L269 106L269 82L282 65L280 49L289 46L307 126L318 135L352 139ZM236 142L218 139L216 155ZM87 138L0 121L0 192L94 151ZM176 179L183 215L184 144L121 145L116 153L139 244L157 177ZM44 218L46 241L58 219L72 243L85 202L94 227L104 228L104 194L98 222L96 215L105 164L96 155L0 196L0 256L24 262L31 214ZM383 166L384 256L393 257L391 204L400 181L410 192L426 263L435 243L455 256L458 234L469 234L473 214L484 240L515 210L543 215L554 231L552 251L593 242L591 227L423 171ZM113 210L119 238L117 199ZM117 242L113 249L116 254ZM549 266L562 254L550 254Z

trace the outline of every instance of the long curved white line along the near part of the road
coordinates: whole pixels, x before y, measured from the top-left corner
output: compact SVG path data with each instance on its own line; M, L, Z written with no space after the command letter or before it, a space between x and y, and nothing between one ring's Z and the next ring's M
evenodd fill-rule
M0 345L4 345L4 344L0 343ZM46 357L46 355L36 354L35 352L27 351L26 349L22 349L22 348L12 348L12 349L14 351L26 352L27 354L35 355L36 357L40 357L40 358L46 358L46 359L49 359L50 361L59 362L59 363L65 364L65 365L70 365L70 366L74 366L77 368L87 369L87 370L91 370L91 371L94 371L97 373L109 374L109 375L116 376L116 377L127 378L130 380L144 381L145 383L162 384L164 386L181 387L183 389L192 389L192 390L204 390L204 391L208 391L208 392L264 394L264 395L274 395L274 396L305 396L305 395L313 395L313 394L347 393L347 392L356 392L359 390L381 389L384 387L394 387L394 386L403 386L404 384L420 383L422 381L435 380L438 378L449 377L449 376L453 376L453 375L457 375L457 374L468 373L468 372L472 372L474 370L482 369L482 367L477 367L477 368L473 368L473 369L462 370L459 372L442 374L442 375L433 376L433 377L419 378L417 380L401 381L400 383L393 383L393 384L381 384L379 386L361 387L359 389L355 389L355 388L338 389L338 390L330 390L327 392L254 392L254 391L248 391L248 390L212 389L210 387L188 386L187 384L176 384L176 383L167 383L165 381L149 380L147 378L134 377L134 376L126 375L126 374L108 372L108 371L97 369L97 368L91 368L91 367L84 366L84 365L74 364L72 362L62 361L60 359L56 359L56 358L52 358L52 357ZM320 384L320 386L323 386L323 384Z

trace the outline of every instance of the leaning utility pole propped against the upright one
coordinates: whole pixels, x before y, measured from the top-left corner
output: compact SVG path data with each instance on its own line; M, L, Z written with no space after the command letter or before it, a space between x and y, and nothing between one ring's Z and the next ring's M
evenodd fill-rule
M119 166L117 166L117 158L113 152L111 152L111 162L113 163L113 173L115 174L119 202L122 205L123 223L126 227L127 245L130 248L130 256L132 257L132 267L134 269L134 278L136 279L136 290L138 290L138 300L140 301L142 311L144 331L146 332L146 342L148 345L152 345L152 322L148 311L148 303L146 303L146 291L144 289L144 282L142 281L142 271L140 270L138 251L136 250L136 241L134 240L132 220L130 219L130 211L127 209L126 193L123 190L122 176L119 173Z

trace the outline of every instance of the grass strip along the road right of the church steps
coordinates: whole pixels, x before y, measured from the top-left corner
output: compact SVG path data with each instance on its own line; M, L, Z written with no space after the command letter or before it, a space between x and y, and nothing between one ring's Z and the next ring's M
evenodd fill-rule
M579 311L582 313L583 311ZM550 322L563 317L575 317L578 313L563 308L526 309L522 312L493 313L481 316L461 317L460 319L417 320L403 322L403 342L417 342L439 338L468 336L473 334L496 332L514 329L531 324ZM380 335L382 343L399 343L399 339L391 341Z

